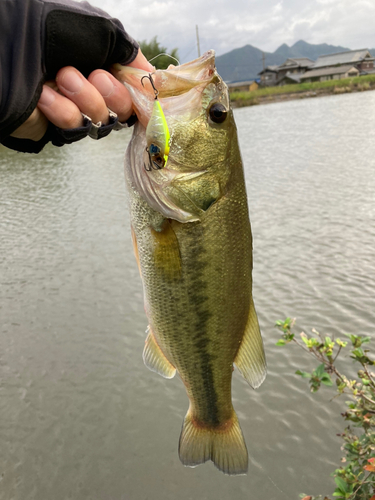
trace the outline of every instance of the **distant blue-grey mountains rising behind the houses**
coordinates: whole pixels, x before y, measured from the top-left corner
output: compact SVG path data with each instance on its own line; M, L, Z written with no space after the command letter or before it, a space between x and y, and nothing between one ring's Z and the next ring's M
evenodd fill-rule
M345 47L327 45L312 45L300 40L289 47L286 43L281 45L275 52L265 52L265 65L280 65L288 57L309 57L315 61L319 56L344 52ZM375 54L375 49L371 49ZM252 45L245 45L240 49L234 49L216 58L216 67L221 77L228 82L252 80L258 78L258 73L263 69L263 52Z

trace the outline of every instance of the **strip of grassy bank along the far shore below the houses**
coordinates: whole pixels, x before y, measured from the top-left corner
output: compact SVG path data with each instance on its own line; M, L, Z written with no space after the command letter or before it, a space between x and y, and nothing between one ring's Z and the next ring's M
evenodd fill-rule
M357 76L325 82L295 83L281 87L265 87L251 92L233 92L230 99L233 108L291 101L326 95L347 94L375 90L375 75Z

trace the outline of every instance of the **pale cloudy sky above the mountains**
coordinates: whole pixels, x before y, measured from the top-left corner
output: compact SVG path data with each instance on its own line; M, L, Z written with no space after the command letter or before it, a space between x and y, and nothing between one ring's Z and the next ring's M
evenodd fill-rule
M181 63L250 44L266 52L298 40L350 49L375 47L375 0L89 0L137 41L158 37Z

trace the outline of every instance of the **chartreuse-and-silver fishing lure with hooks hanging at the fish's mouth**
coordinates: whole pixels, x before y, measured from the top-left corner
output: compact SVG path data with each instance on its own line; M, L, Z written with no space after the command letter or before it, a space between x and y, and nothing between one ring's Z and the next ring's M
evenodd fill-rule
M149 157L149 165L144 165L145 169L150 172L151 170L161 170L165 167L169 155L169 142L171 139L167 120L165 119L163 109L158 99L159 91L155 87L152 75L144 76L141 79L148 78L154 89L155 101L151 113L150 121L146 128L146 151Z

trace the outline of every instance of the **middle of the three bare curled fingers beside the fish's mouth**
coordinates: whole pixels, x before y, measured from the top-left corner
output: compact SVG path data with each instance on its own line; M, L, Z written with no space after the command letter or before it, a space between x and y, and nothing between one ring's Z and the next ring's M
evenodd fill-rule
M77 69L72 66L62 68L56 75L56 83L59 90L94 123L108 123L108 109L103 97Z

